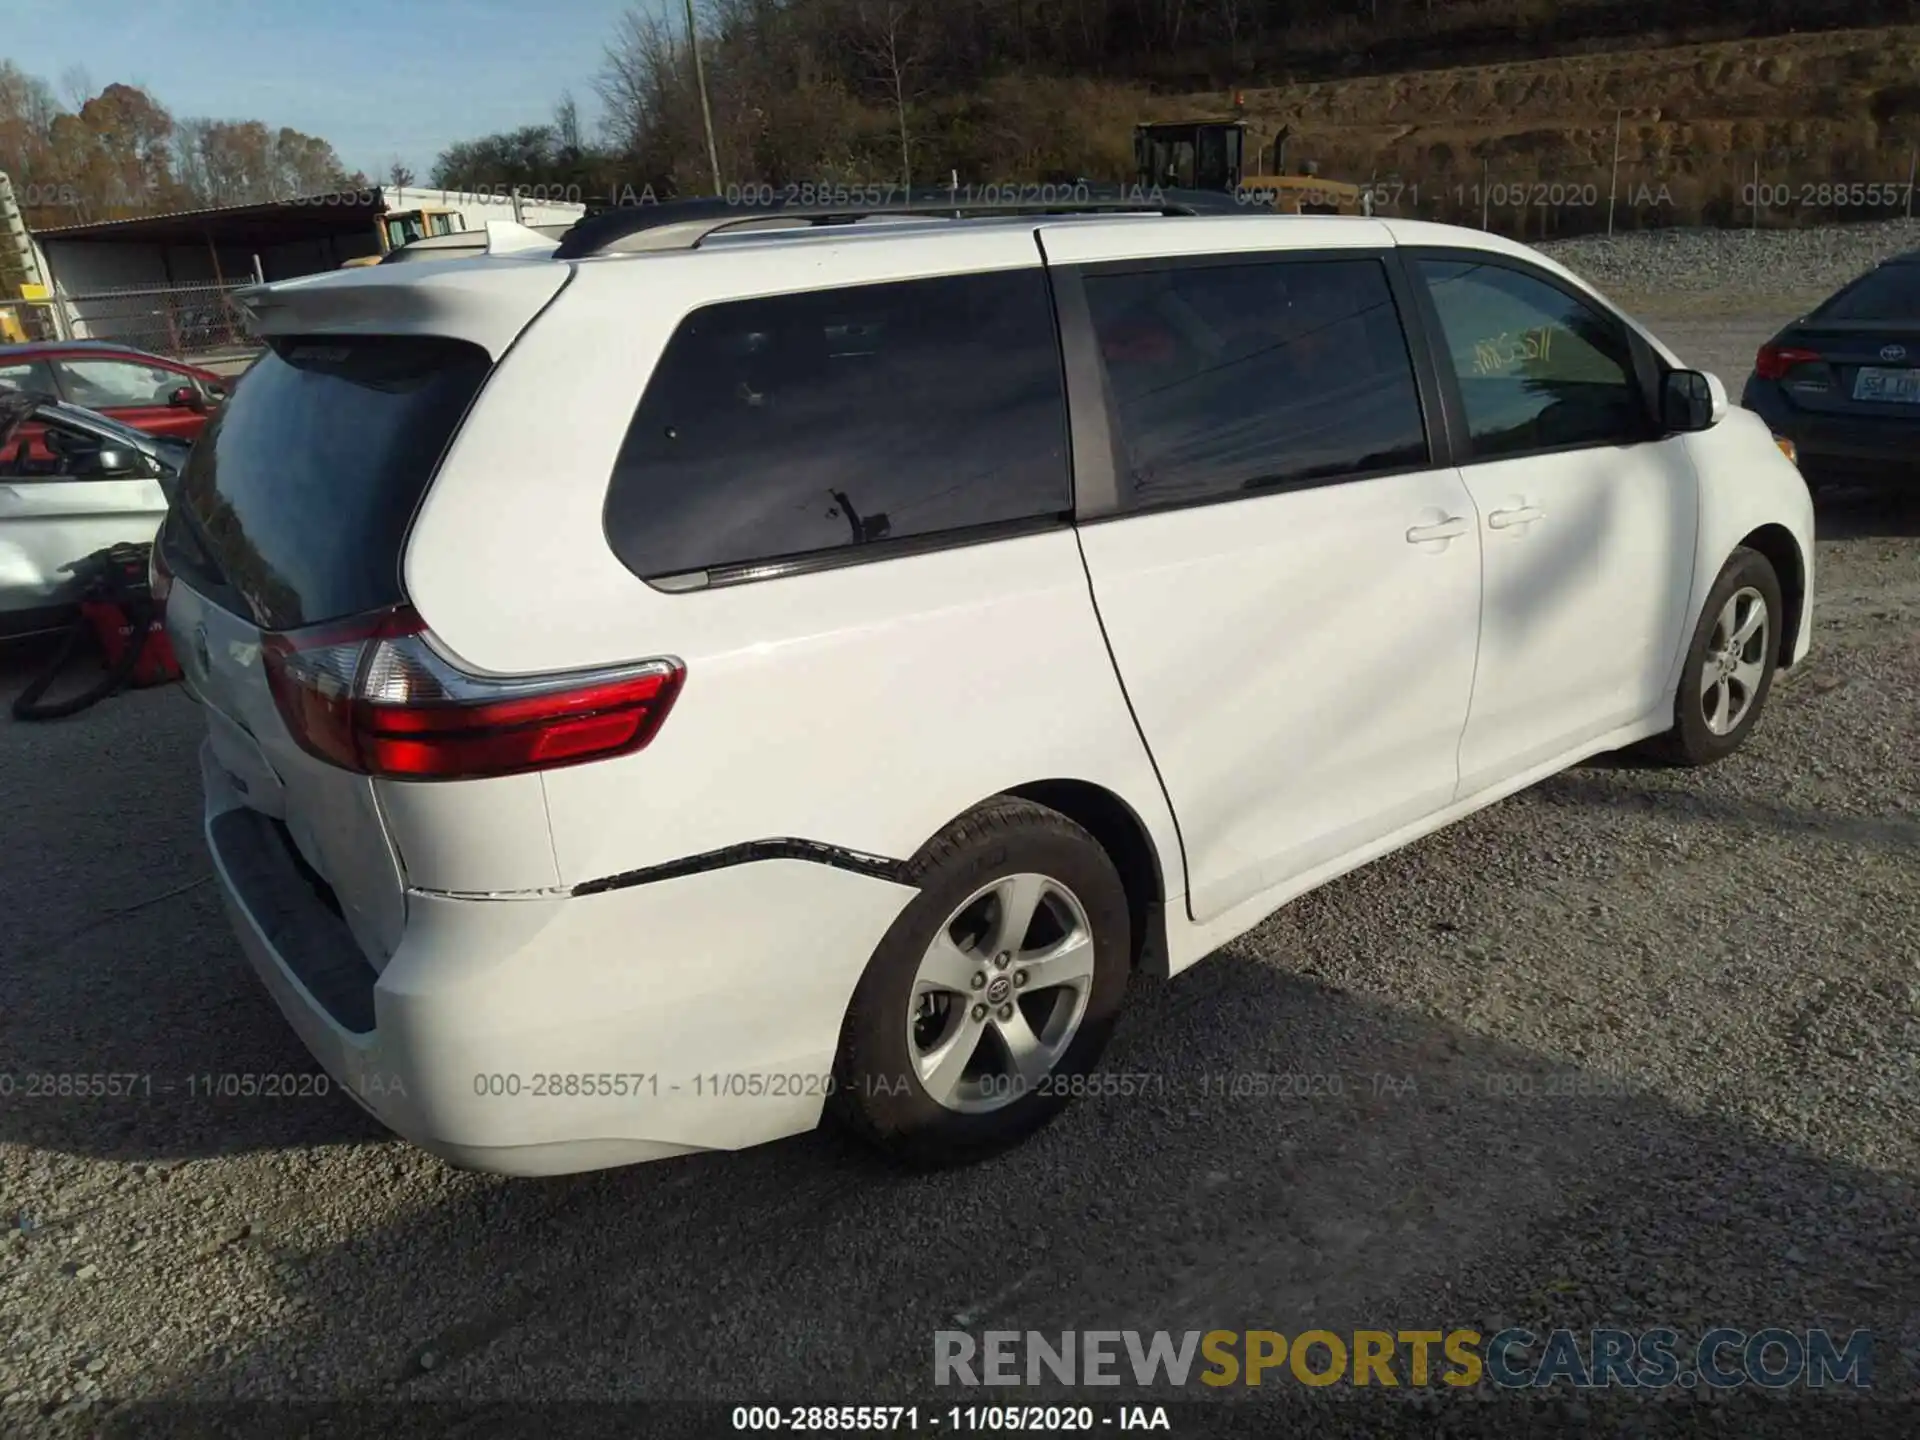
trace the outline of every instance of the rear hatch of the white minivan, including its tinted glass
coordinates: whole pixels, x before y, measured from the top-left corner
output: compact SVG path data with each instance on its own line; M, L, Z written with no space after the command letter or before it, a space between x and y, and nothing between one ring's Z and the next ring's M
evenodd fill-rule
M263 647L401 603L401 551L493 357L422 334L273 336L188 457L161 532L167 628L213 758L384 966L405 879L374 781L303 749Z

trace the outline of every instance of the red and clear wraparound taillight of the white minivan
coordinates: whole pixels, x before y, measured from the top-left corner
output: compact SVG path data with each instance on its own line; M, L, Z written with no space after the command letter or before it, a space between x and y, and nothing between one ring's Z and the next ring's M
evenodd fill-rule
M267 636L263 659L301 749L390 780L478 780L632 755L685 678L680 660L472 676L428 643L407 607Z

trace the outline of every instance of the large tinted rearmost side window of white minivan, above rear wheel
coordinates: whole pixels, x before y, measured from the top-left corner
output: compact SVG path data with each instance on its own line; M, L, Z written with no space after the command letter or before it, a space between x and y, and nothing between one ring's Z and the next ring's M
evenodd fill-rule
M607 540L659 580L1056 516L1066 436L1037 269L708 305L634 413Z

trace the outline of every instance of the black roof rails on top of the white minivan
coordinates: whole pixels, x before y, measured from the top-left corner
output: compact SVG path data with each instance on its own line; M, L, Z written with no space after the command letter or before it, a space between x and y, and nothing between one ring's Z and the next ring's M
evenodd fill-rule
M879 186L849 186L877 190ZM891 188L891 186L889 186ZM739 228L804 228L856 225L893 215L925 219L985 219L991 215L1236 215L1246 213L1231 194L1212 190L1160 190L1148 186L1035 184L1004 186L1006 198L958 200L954 190L906 190L872 205L749 204L720 198L664 200L630 205L574 221L553 259L693 250L710 234ZM1033 192L1029 198L1027 192Z

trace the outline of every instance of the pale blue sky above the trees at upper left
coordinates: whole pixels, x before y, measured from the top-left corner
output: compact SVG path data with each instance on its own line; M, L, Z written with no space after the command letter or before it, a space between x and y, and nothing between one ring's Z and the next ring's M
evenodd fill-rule
M65 96L138 84L177 119L257 119L330 140L378 179L424 180L453 140L538 125L570 90L599 123L593 75L622 12L662 0L4 0L0 58Z

